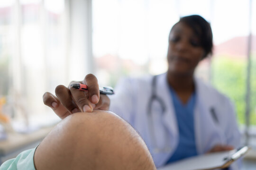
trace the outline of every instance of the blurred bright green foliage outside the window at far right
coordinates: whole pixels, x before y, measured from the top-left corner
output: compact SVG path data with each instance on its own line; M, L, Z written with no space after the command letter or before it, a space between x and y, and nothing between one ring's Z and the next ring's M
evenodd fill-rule
M256 59L252 60L256 66ZM250 123L256 125L256 68L251 70L251 119ZM236 106L239 124L245 123L245 97L247 60L232 59L230 56L216 56L212 62L212 83L222 93L226 94Z

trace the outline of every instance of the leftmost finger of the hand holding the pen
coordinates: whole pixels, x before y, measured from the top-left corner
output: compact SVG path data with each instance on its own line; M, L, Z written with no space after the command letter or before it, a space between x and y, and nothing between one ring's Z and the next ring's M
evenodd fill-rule
M55 114L59 116L61 119L64 119L65 117L70 115L70 112L62 105L62 103L58 100L58 98L52 93L46 92L43 95L43 101L45 105L52 108Z

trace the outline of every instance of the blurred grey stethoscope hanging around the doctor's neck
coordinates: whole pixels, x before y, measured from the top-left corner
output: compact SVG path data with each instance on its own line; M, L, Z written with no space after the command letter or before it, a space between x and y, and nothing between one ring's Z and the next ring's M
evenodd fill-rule
M152 115L152 105L153 102L158 102L160 104L161 107L161 114L162 116L165 113L166 110L166 106L165 106L165 102L156 95L156 78L157 76L153 76L152 79L152 90L151 90L151 97L149 98L148 101L148 105L147 105L147 119L148 119L148 127L149 127L149 131L150 131L150 136L151 136L151 141L152 141L152 145L153 145L153 152L154 153L168 153L172 150L172 147L170 147L168 144L170 144L170 138L166 135L165 136L165 146L163 148L160 148L157 146L156 144L156 136L155 136L155 130L154 130L154 120L153 120L153 115ZM210 107L210 113L211 113L211 117L214 120L214 122L216 124L219 124L219 119L218 116L215 112L214 107Z

